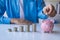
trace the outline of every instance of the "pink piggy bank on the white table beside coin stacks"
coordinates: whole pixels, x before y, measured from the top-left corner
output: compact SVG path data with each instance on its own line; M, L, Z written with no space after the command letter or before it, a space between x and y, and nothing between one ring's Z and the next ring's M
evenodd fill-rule
M51 20L44 20L41 24L41 29L45 33L51 33L54 27L54 23Z

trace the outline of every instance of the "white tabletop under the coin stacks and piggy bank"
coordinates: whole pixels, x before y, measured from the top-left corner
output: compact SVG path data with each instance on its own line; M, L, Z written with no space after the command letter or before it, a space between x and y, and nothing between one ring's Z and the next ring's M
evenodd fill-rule
M8 29L20 25L0 24L0 40L59 40L60 24L55 24L53 33L42 33L40 25L37 24L37 32L9 32ZM32 30L31 30L32 31Z

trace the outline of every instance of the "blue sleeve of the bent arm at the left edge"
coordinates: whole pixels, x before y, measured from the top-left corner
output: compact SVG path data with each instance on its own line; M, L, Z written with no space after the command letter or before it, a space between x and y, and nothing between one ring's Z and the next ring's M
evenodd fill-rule
M0 0L0 24L10 24L10 18L3 16L6 11L5 1L6 0Z

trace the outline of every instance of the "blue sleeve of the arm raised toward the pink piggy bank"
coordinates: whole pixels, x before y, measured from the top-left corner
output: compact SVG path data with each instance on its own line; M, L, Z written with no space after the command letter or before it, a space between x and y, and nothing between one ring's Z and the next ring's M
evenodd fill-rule
M45 3L43 0L38 0L38 18L47 19L48 16L44 14L43 8L45 7Z

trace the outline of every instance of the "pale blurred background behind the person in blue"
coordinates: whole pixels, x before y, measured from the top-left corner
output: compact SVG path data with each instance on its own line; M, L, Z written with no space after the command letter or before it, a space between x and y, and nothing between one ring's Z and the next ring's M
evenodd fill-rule
M59 18L60 17L60 12L59 12L60 11L60 0L44 0L44 1L45 1L46 5L53 4L56 8L56 11L57 11L57 15L55 17L52 17L52 18L49 17L49 19L55 20L56 23L60 23L60 18ZM5 12L4 16L8 17L6 12Z

